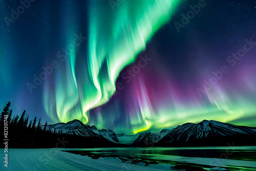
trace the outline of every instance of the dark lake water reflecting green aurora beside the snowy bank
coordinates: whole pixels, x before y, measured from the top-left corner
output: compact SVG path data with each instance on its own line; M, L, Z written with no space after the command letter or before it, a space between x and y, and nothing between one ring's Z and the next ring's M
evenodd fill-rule
M256 170L256 146L225 147L126 147L75 149L83 155L155 160L170 164L196 164L205 169Z

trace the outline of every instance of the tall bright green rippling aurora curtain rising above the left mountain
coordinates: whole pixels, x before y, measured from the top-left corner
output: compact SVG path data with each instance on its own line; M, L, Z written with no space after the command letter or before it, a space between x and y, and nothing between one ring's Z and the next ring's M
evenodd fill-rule
M169 21L178 3L177 0L130 0L113 10L109 1L105 5L91 2L88 46L70 48L66 65L59 64L54 78L46 80L47 114L55 121L79 119L88 123L89 110L109 101L116 91L120 71L135 61L151 36ZM72 8L66 15L75 10ZM73 33L79 33L72 28L79 21L70 18L69 22L66 47L72 44ZM81 48L87 55L78 52ZM150 125L144 121L148 129Z

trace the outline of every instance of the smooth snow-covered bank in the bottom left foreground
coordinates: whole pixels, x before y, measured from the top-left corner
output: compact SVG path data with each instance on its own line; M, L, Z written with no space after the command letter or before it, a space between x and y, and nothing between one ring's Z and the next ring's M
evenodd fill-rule
M1 149L3 152L4 149ZM2 153L1 153L2 154ZM1 155L3 156L3 155ZM2 158L2 157L1 157ZM170 170L170 164L137 165L122 163L118 158L92 159L67 152L60 148L46 149L9 149L8 168L1 162L0 170ZM158 167L158 168L154 168Z

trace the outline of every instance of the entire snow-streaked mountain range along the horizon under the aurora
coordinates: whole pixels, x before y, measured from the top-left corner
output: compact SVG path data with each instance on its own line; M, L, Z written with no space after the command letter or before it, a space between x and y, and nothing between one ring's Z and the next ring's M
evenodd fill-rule
M42 126L44 129L44 126ZM72 120L67 123L56 123L47 125L47 130L61 131L70 135L93 137L109 140L119 144L145 145L148 143L168 144L179 142L190 142L204 138L222 138L226 136L256 135L254 127L237 126L229 123L222 123L214 120L203 120L199 123L184 123L173 130L163 129L160 133L146 132L140 135L115 134L110 129L97 130L97 128L84 125L79 120Z

